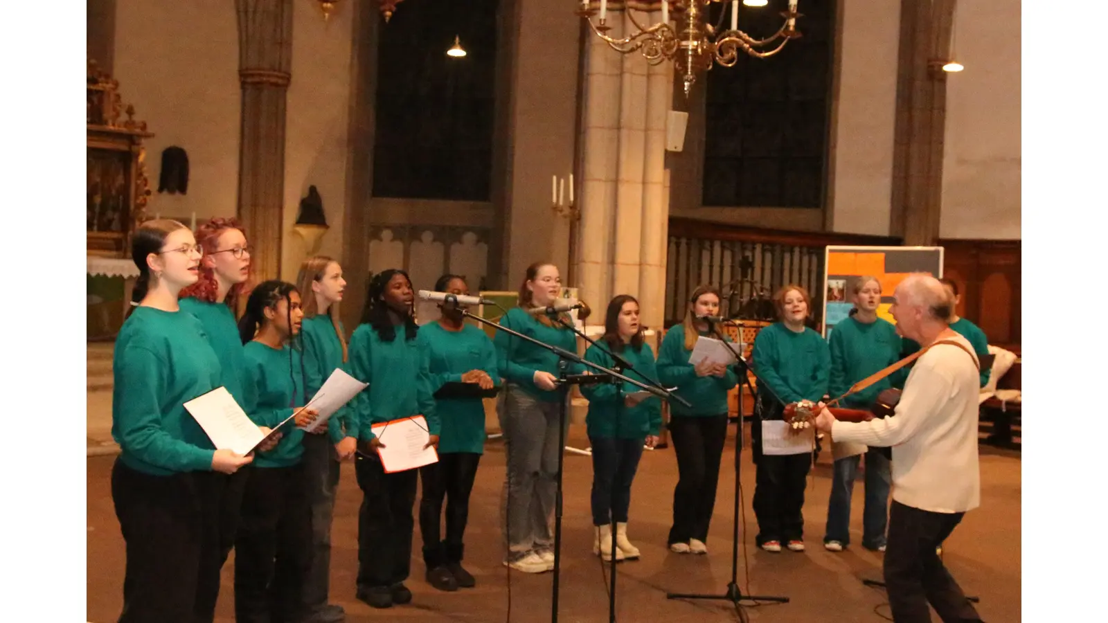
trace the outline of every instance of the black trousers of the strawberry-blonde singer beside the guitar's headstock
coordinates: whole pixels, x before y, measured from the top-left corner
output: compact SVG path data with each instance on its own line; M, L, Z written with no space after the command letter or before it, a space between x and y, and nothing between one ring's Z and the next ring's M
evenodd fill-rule
M804 538L804 479L812 468L812 453L763 455L761 422L750 427L755 459L755 515L758 545L767 541L801 541Z

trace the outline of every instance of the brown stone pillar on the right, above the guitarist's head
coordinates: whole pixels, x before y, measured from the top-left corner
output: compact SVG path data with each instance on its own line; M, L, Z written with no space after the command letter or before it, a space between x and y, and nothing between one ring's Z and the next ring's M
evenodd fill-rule
M955 0L901 1L890 229L906 245L938 242L946 73Z

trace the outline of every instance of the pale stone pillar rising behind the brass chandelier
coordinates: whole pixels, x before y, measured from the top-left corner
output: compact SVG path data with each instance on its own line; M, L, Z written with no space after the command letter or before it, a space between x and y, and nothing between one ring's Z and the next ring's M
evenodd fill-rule
M608 12L612 37L634 28L622 11L609 7ZM649 21L660 17L659 9ZM588 37L575 285L598 313L615 295L635 296L642 321L660 328L669 214L665 127L673 65L652 67L638 53L620 54L595 34Z

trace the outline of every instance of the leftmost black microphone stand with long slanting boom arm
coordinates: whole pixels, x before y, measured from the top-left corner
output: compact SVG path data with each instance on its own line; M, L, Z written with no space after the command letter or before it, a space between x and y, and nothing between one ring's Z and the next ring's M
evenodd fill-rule
M450 302L451 297L445 300ZM456 297L453 297L453 304L458 305ZM598 364L594 364L579 357L576 353L570 353L564 348L558 348L543 341L540 341L531 336L523 335L519 331L512 330L507 327L501 326L492 320L482 318L474 314L469 313L462 307L458 307L458 310L462 313L462 316L476 320L482 325L493 327L499 331L504 331L513 337L521 338L523 340L530 341L535 346L540 346L550 350L551 353L558 356L558 387L562 391L562 401L558 419L558 453L557 453L557 474L555 476L555 481L557 483L557 492L554 501L554 581L551 593L551 622L557 623L557 598L558 598L558 578L561 575L561 563L562 563L562 468L565 459L565 428L566 428L566 402L570 399L570 386L571 385L582 385L592 382L606 382L608 379L618 379L629 382L645 391L648 391L659 398L667 398L668 391L663 389L657 389L655 387L649 387L635 379L627 378L624 375L605 368ZM570 375L570 364L577 364L581 366L586 366L599 371L599 375Z

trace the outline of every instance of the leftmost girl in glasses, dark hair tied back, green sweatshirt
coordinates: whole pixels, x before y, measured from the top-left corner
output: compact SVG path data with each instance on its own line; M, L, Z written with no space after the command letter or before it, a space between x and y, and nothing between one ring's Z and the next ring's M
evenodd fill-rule
M176 221L142 224L131 242L138 267L132 309L112 361L112 437L121 453L112 500L126 543L122 623L203 620L219 518L205 478L235 473L253 457L215 450L184 402L223 385L203 325L177 297L196 283L202 251ZM218 569L214 582L218 590ZM211 595L214 603L214 595ZM211 620L207 616L206 620Z

